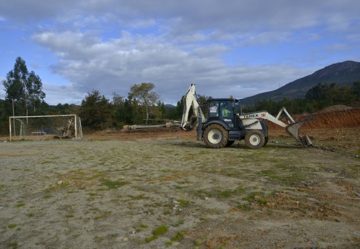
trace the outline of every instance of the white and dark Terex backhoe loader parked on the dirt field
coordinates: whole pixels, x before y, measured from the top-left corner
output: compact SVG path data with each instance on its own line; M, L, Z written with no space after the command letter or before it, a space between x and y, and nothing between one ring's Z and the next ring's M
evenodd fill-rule
M269 141L269 132L264 120L284 127L290 136L298 140L303 147L312 147L309 136L299 136L303 124L312 120L312 116L295 121L285 107L274 117L267 111L242 113L240 100L234 98L212 98L208 100L207 118L201 111L195 84L191 84L183 99L183 117L181 127L185 131L197 129L197 139L204 140L206 147L219 149L229 147L237 140L244 140L251 149L259 149ZM192 111L191 111L192 110ZM189 117L190 116L190 117ZM287 123L281 119L285 117Z

